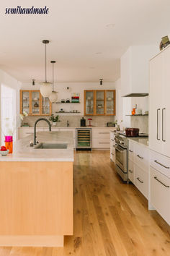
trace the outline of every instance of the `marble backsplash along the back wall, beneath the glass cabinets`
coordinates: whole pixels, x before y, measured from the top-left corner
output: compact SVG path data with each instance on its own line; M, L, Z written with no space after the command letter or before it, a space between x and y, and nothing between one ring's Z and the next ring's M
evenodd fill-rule
M49 116L27 116L24 118L22 123L28 123L30 127L34 127L35 121L39 118L49 119ZM57 123L56 127L66 127L67 120L69 121L69 127L80 127L80 120L82 116L60 116L60 122ZM107 127L107 122L114 121L115 116L85 116L86 125L89 124L88 118L91 118L91 125L94 127ZM37 127L48 127L47 122L39 121Z

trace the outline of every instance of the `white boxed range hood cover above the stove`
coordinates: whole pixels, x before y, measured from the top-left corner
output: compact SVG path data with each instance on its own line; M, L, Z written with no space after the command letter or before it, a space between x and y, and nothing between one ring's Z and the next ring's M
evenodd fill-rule
M157 46L130 46L121 57L121 95L147 94L149 90L148 61Z

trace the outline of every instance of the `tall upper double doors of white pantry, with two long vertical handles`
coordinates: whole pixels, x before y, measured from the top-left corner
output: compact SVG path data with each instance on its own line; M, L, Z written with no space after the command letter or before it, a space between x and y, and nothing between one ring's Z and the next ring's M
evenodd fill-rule
M170 157L170 47L150 61L149 145Z

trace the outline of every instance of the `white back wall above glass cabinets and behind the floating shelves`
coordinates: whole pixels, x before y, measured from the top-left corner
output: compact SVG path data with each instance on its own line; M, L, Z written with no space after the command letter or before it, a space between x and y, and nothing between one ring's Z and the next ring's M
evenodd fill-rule
M66 88L71 88L71 92L68 92ZM22 83L23 90L40 90L40 85L35 83L35 86L32 86L31 83ZM114 90L114 82L103 82L103 85L99 85L99 82L62 82L55 83L55 91L58 92L58 101L61 99L71 98L71 93L80 93L80 102L81 104L55 104L53 103L53 113L59 111L60 108L63 108L64 111L78 110L81 113L77 115L84 115L84 90ZM63 114L65 115L65 114ZM68 115L68 114L67 114Z

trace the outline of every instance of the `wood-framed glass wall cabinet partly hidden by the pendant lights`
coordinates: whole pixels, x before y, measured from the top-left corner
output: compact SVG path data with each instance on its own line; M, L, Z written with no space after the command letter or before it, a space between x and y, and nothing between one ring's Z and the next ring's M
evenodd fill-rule
M40 90L20 90L20 114L23 111L29 116L50 116L52 103L42 97Z

